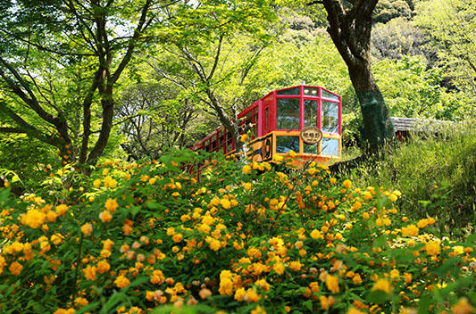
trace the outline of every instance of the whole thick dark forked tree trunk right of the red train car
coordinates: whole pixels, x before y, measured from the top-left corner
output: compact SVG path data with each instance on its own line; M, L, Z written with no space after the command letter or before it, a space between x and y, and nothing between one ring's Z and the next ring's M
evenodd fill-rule
M349 70L363 117L363 140L368 153L394 136L388 109L371 68L372 12L378 0L322 0L329 21L328 32Z

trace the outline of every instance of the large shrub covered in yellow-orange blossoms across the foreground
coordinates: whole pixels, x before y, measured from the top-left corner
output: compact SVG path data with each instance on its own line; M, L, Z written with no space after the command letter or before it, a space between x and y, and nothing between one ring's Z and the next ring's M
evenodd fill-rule
M0 311L474 312L474 238L402 217L398 191L214 155L196 178L179 167L194 158L1 192Z

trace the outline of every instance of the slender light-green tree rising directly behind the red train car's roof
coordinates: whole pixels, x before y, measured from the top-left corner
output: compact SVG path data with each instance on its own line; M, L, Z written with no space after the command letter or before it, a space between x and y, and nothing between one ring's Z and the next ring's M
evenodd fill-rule
M275 13L266 0L205 0L178 4L171 14L176 18L161 30L167 44L160 45L154 70L205 104L242 150L240 99L249 71L269 45Z

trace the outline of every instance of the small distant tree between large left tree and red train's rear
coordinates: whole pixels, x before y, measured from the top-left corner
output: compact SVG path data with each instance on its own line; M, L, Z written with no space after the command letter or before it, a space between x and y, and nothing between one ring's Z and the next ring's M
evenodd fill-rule
M117 108L118 120L125 120L119 132L127 142L121 147L135 160L157 158L172 147L191 143L186 135L188 125L198 113L190 99L180 99L180 91L171 84L145 82L124 91Z

